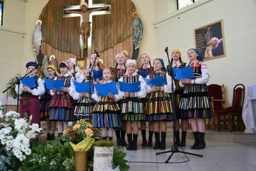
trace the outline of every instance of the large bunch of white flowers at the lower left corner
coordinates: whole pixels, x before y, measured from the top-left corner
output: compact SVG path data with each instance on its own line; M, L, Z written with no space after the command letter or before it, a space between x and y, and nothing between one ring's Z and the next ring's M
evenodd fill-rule
M36 132L42 130L37 123L29 125L24 118L19 117L20 113L15 111L5 115L0 112L0 170L11 166L14 158L19 161L26 159L26 155L31 153L30 142L36 138Z

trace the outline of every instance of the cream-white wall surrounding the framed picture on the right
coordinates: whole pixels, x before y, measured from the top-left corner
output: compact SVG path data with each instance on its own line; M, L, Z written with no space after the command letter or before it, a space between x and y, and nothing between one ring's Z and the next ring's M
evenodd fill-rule
M163 8L166 5L162 3ZM161 9L161 6L157 6L155 10ZM232 103L234 85L241 83L248 87L256 84L255 9L255 0L200 0L171 14L156 16L153 25L156 27L157 56L167 62L164 48L168 46L169 51L180 48L182 59L189 62L186 53L188 49L195 48L194 29L222 19L226 57L205 63L211 71L208 85L225 85L228 107Z

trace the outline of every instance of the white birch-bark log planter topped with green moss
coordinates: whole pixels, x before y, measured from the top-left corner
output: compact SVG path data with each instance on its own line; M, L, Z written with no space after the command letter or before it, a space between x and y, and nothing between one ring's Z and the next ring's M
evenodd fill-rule
M94 142L94 171L112 169L114 151L113 145L113 142L109 140L101 140Z

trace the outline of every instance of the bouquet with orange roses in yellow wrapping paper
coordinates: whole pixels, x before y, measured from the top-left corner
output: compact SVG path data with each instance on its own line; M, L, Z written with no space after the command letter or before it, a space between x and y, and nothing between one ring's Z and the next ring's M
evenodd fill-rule
M62 139L70 143L74 151L88 151L99 135L100 129L80 119L63 131Z

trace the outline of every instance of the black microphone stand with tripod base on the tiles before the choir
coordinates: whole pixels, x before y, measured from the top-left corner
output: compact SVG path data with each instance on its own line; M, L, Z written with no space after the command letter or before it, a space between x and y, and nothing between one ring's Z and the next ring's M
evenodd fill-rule
M177 145L175 143L175 120L174 120L174 116L176 116L176 111L175 111L175 106L174 106L174 86L173 86L173 83L174 83L174 76L176 76L175 72L173 72L172 70L172 66L171 66L171 63L170 63L170 58L169 58L169 53L168 53L168 47L165 48L165 52L167 54L167 58L168 58L168 66L170 66L170 70L168 70L168 74L169 76L171 76L172 78L172 121L173 121L173 145L172 145L172 148L170 151L164 151L164 152L160 152L160 153L156 153L156 155L159 155L159 154L164 154L164 153L171 153L171 155L168 157L168 159L165 161L165 163L169 163L169 160L170 158L172 157L172 155L174 155L174 153L184 153L184 154L190 154L190 155L195 155L195 156L198 156L198 157L203 157L203 155L200 155L200 154L194 154L194 153L188 153L188 152L185 152L185 151L180 151L178 150L177 148ZM186 161L185 161L186 162Z

